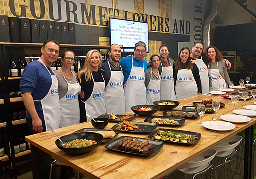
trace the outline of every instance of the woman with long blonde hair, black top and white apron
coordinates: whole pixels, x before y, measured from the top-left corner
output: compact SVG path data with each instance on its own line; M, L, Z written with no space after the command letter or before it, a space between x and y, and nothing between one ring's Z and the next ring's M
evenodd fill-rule
M81 98L80 104L80 122L86 121L86 114L96 118L106 113L104 89L105 81L102 76L102 56L98 50L90 50L84 62L84 66L76 75L81 91L84 92L84 98ZM90 121L88 118L87 121Z

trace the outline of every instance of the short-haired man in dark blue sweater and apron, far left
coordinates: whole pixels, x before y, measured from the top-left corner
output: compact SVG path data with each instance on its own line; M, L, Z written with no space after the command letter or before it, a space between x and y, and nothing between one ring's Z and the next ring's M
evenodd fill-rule
M41 58L24 69L20 78L20 91L26 107L26 122L31 134L59 128L60 103L58 80L51 66L58 58L60 45L56 40L47 40L41 48ZM43 179L49 176L51 156L31 147L33 176Z

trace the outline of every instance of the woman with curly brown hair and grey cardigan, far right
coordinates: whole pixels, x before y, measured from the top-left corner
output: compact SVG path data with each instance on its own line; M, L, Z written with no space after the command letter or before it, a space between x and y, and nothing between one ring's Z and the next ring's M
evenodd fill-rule
M230 77L227 73L225 61L221 60L221 52L215 46L208 46L204 54L209 61L208 76L209 76L209 91L216 91L219 84L224 84L224 88L228 87Z

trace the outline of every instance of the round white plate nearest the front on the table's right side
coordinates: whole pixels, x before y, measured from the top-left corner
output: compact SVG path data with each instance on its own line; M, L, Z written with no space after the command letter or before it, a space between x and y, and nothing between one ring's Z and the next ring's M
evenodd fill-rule
M232 130L235 129L236 125L226 121L205 121L203 122L203 126L210 130Z

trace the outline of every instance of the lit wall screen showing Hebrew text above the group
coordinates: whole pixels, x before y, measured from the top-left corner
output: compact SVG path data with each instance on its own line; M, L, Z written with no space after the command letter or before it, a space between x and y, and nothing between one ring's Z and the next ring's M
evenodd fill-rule
M148 23L111 18L110 30L111 44L123 45L124 52L133 52L138 41L146 44L148 52Z

